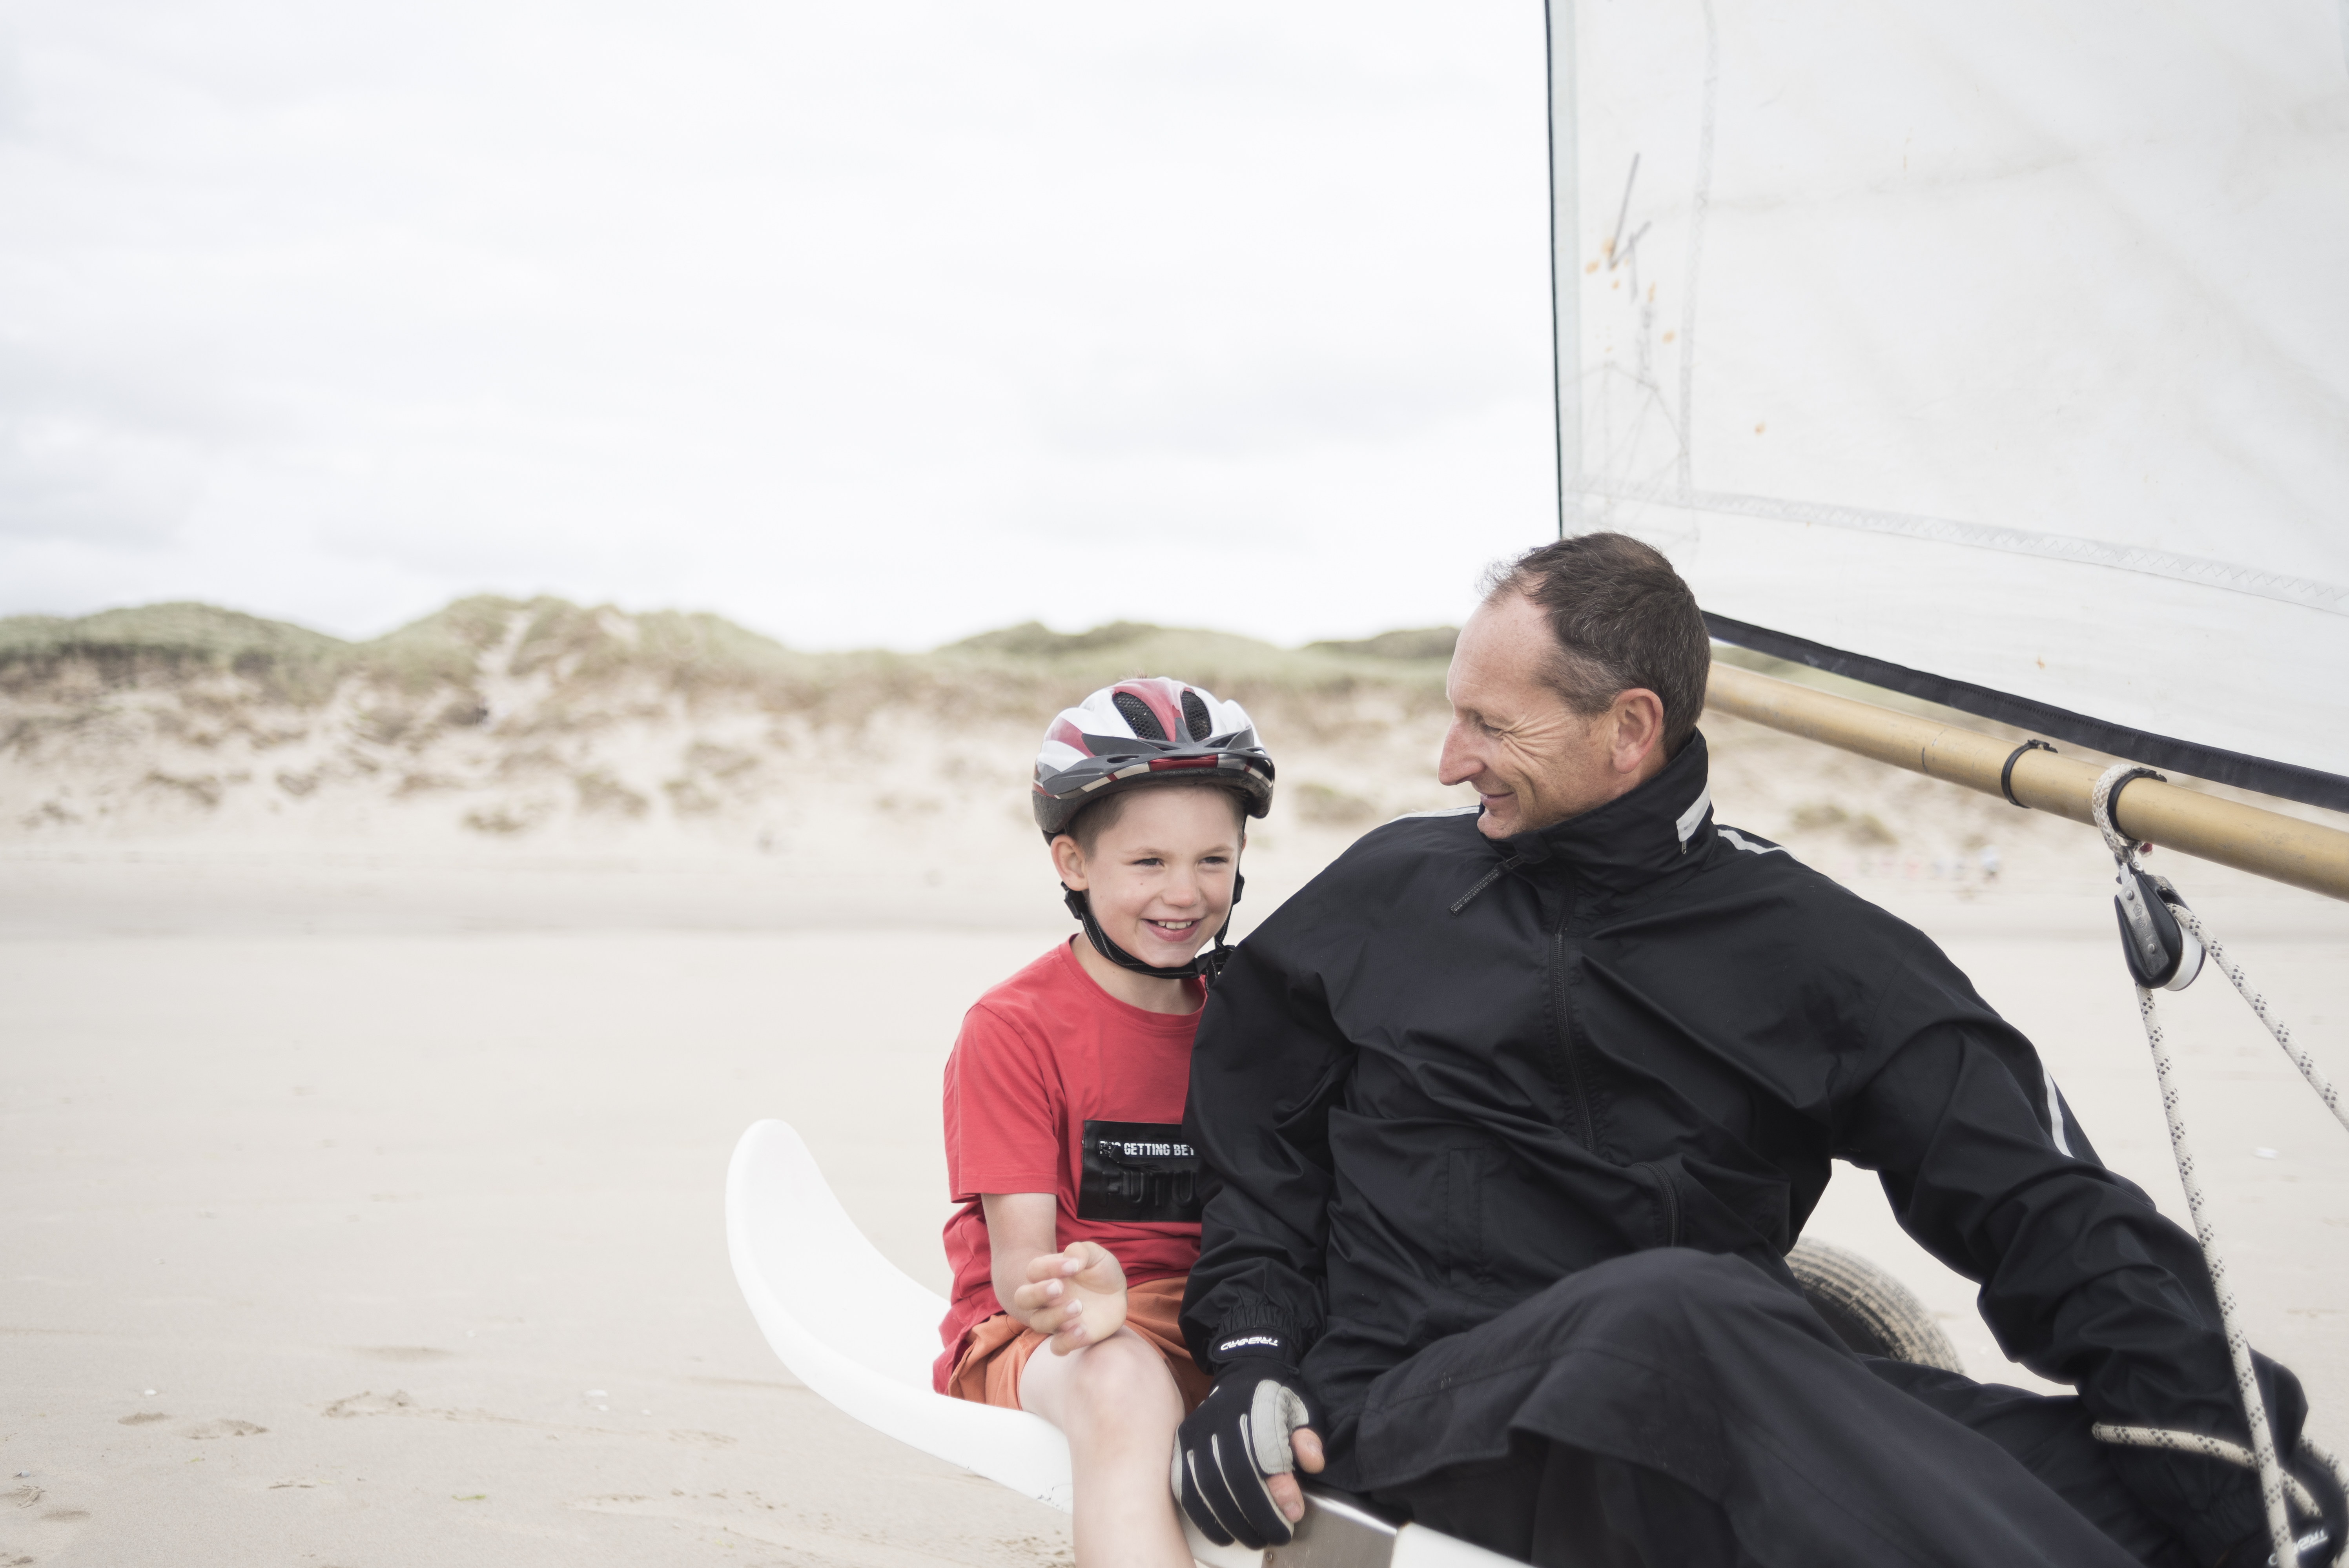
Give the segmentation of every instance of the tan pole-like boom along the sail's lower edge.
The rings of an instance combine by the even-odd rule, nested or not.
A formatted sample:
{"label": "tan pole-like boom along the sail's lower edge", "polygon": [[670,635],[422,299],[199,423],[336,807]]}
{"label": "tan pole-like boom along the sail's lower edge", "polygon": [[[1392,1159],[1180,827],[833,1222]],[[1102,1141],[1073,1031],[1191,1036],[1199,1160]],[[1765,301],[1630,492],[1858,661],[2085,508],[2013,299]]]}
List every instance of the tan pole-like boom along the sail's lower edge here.
{"label": "tan pole-like boom along the sail's lower edge", "polygon": [[[2015,751],[2013,742],[1992,735],[1773,681],[1736,664],[1712,667],[1705,707],[1985,796],[1999,793],[1999,770]],[[2015,800],[2093,826],[2088,791],[2100,772],[2095,763],[2025,751],[2013,770]],[[2138,779],[2121,791],[2119,826],[2138,843],[2349,899],[2349,833],[2340,829],[2199,796],[2159,779]]]}

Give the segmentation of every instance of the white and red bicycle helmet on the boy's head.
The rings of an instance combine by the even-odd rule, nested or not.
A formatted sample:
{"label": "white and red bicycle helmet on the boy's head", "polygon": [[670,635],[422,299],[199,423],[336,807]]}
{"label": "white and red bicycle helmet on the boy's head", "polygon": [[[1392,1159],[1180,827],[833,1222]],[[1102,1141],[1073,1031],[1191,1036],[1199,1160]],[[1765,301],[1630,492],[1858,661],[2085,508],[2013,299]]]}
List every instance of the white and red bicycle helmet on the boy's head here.
{"label": "white and red bicycle helmet on the boy's head", "polygon": [[1273,810],[1273,758],[1247,711],[1205,685],[1139,676],[1104,685],[1045,725],[1036,826],[1057,838],[1095,800],[1144,784],[1221,784],[1250,817]]}

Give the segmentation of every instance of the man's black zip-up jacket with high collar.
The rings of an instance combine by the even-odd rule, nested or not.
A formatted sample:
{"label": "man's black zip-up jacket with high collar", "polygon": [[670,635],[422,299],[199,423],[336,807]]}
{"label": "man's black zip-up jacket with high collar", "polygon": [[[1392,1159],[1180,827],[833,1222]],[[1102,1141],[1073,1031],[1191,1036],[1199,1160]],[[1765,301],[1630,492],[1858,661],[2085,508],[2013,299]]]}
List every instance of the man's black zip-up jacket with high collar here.
{"label": "man's black zip-up jacket with high collar", "polygon": [[1921,932],[1715,826],[1701,735],[1539,833],[1367,833],[1233,953],[1189,1122],[1221,1181],[1191,1347],[1306,1345],[1339,1451],[1372,1378],[1593,1263],[1696,1246],[1795,1289],[1837,1157],[2098,1420],[2243,1430],[2194,1239]]}

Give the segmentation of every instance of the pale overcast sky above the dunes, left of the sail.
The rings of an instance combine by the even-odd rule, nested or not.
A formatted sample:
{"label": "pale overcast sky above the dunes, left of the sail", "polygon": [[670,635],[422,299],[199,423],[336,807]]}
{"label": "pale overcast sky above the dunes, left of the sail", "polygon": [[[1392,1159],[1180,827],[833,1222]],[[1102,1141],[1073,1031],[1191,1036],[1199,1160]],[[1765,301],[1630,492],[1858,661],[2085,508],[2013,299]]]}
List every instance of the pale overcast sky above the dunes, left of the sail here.
{"label": "pale overcast sky above the dunes, left of the sail", "polygon": [[1456,620],[1555,528],[1541,0],[14,0],[0,613]]}

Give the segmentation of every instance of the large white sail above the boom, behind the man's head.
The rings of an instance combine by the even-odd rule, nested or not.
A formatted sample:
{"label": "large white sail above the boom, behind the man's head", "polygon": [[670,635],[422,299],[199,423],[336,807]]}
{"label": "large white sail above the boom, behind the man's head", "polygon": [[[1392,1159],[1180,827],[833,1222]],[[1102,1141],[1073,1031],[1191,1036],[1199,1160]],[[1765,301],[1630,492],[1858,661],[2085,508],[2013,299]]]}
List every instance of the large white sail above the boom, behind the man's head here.
{"label": "large white sail above the boom, behind the man's head", "polygon": [[1729,641],[2349,807],[2344,28],[1553,0],[1564,526]]}

